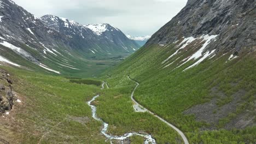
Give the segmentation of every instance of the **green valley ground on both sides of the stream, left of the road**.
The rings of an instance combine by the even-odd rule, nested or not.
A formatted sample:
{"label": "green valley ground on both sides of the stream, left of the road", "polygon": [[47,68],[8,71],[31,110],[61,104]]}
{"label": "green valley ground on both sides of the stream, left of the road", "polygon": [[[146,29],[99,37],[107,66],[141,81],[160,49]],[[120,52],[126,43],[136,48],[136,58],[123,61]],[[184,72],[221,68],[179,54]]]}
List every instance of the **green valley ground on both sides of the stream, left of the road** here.
{"label": "green valley ground on both sides of the stream, left of the road", "polygon": [[[149,113],[133,111],[130,95],[135,83],[101,90],[101,80],[73,79],[0,66],[8,71],[21,103],[15,102],[0,121],[0,139],[10,143],[110,143],[101,134],[102,123],[91,117],[86,101],[96,94],[97,115],[109,124],[108,133],[132,131],[152,134],[158,143],[180,143],[181,138]],[[81,83],[81,84],[79,84]],[[86,83],[86,84],[84,84]],[[142,137],[131,137],[142,143]],[[119,143],[118,141],[113,141]]]}

